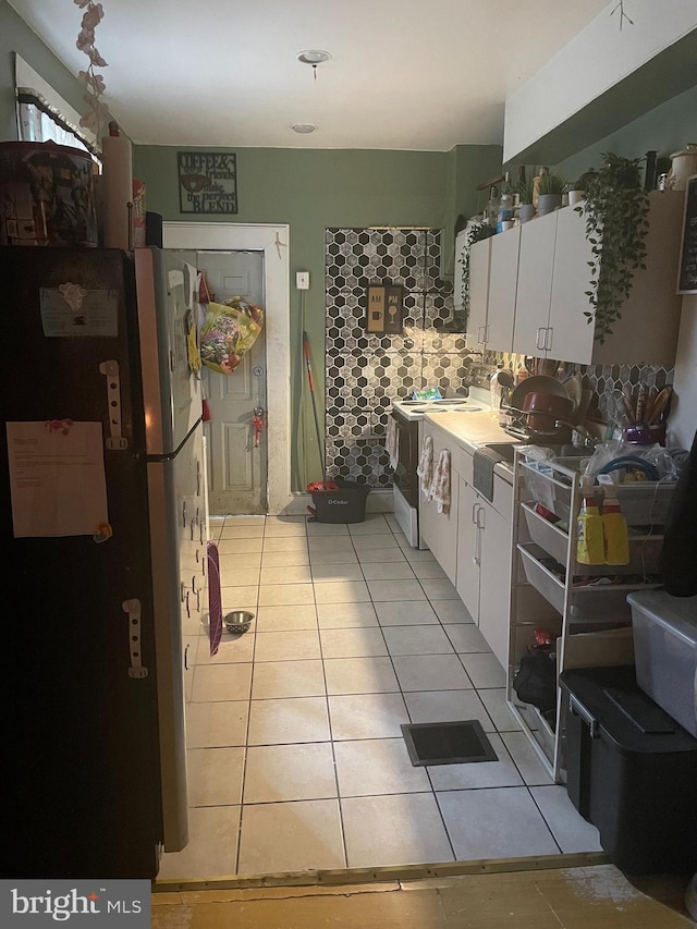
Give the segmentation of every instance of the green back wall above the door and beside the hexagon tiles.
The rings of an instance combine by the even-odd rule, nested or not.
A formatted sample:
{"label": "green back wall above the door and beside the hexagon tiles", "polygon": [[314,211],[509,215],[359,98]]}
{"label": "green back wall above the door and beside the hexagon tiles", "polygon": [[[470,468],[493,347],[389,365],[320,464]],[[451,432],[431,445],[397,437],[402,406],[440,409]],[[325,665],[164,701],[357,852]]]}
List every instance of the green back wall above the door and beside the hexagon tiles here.
{"label": "green back wall above the door and beside the hexagon tiles", "polygon": [[[187,150],[192,150],[187,148]],[[220,151],[200,148],[193,150]],[[176,148],[135,146],[134,173],[146,185],[147,209],[164,220],[289,223],[291,268],[291,365],[293,488],[299,475],[304,430],[314,420],[301,408],[305,371],[302,329],[307,330],[317,393],[323,395],[325,229],[328,227],[452,227],[458,212],[474,212],[474,187],[500,170],[499,146],[469,146],[465,152],[231,148],[237,157],[239,212],[234,217],[181,213]],[[310,273],[304,319],[295,271]],[[320,360],[321,359],[321,360]],[[321,413],[321,410],[320,410]],[[304,415],[305,414],[305,415]]]}

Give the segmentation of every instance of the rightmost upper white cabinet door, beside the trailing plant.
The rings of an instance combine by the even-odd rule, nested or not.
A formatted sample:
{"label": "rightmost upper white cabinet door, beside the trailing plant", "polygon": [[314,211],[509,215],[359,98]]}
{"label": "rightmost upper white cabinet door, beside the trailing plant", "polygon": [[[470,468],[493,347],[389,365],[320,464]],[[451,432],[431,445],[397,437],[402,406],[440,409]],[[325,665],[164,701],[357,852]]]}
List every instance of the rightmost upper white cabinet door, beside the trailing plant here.
{"label": "rightmost upper white cabinet door, beside the trailing plant", "polygon": [[590,310],[586,291],[591,258],[584,217],[573,207],[558,210],[547,349],[550,357],[561,362],[591,362],[594,325],[584,316]]}

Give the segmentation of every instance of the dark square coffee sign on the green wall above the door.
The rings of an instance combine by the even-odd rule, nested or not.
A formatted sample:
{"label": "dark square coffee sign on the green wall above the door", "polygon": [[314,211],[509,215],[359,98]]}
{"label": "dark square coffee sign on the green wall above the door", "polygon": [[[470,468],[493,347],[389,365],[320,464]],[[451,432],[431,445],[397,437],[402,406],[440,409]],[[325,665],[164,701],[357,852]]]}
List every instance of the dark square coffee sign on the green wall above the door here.
{"label": "dark square coffee sign on the green wall above the door", "polygon": [[237,212],[237,164],[233,152],[178,151],[176,162],[181,212]]}

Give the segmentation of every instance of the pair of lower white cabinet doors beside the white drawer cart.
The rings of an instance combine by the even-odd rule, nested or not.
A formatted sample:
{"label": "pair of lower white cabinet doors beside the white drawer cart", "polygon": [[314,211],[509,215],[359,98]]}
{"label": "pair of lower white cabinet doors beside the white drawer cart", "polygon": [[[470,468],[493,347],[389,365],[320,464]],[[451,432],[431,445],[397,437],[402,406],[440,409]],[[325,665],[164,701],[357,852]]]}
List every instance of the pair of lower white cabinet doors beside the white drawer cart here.
{"label": "pair of lower white cabinet doors beside the white drawer cart", "polygon": [[494,477],[494,506],[460,480],[456,588],[492,652],[508,663],[511,596],[511,486]]}

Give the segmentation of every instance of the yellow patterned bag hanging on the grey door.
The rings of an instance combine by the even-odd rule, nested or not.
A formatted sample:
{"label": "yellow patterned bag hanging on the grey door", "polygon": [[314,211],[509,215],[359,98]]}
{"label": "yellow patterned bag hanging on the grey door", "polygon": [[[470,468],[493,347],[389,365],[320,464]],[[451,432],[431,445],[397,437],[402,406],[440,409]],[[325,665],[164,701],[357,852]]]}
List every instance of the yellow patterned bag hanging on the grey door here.
{"label": "yellow patterned bag hanging on the grey door", "polygon": [[209,303],[200,330],[200,356],[205,365],[231,375],[252,349],[264,327],[264,309],[235,296]]}

